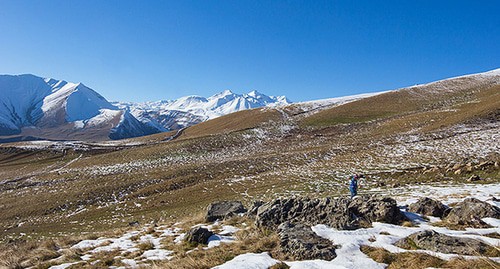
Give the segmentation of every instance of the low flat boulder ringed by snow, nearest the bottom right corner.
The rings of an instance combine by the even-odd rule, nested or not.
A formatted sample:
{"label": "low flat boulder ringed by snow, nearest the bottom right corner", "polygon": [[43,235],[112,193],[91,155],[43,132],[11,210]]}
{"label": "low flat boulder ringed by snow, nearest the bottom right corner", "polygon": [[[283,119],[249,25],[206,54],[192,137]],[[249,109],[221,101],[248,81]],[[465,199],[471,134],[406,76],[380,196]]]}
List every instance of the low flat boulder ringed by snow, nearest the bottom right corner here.
{"label": "low flat boulder ringed by snow, nearest the bottom right corner", "polygon": [[397,241],[395,245],[405,249],[425,249],[459,255],[489,255],[496,257],[500,253],[493,246],[482,241],[449,236],[431,230],[414,233]]}

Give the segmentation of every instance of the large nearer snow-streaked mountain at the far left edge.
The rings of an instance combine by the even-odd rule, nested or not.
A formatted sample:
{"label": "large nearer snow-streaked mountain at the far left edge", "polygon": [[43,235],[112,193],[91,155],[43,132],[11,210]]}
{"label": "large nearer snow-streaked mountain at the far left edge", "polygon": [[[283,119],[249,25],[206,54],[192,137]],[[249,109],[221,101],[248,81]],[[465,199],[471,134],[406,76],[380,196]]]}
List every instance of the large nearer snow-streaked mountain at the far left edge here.
{"label": "large nearer snow-streaked mountain at the far left edge", "polygon": [[159,131],[82,83],[0,75],[0,135],[119,139]]}

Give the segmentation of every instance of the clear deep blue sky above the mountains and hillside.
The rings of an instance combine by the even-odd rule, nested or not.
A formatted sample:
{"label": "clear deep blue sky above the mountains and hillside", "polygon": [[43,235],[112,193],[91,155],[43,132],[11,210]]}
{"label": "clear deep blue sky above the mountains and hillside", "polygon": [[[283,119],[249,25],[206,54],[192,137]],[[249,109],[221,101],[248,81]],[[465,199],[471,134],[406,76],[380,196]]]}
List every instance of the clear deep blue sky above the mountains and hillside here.
{"label": "clear deep blue sky above the mountains and hillside", "polygon": [[499,14],[498,0],[0,0],[0,74],[109,100],[312,100],[499,68]]}

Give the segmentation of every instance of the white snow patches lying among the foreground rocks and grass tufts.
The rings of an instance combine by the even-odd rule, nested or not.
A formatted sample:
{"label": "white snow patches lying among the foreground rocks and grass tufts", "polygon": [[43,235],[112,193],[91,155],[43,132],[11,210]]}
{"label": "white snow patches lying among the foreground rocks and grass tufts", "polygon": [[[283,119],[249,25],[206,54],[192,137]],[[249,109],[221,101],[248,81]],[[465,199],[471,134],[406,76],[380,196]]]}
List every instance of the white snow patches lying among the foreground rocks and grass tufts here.
{"label": "white snow patches lying among the foreground rocks and grass tufts", "polygon": [[[391,190],[374,189],[373,192],[395,198],[399,205],[404,206],[416,201],[420,197],[436,198],[445,204],[462,201],[467,197],[499,205],[492,197],[500,196],[500,183],[495,184],[461,184],[461,185],[416,185],[411,187],[394,188]],[[333,244],[339,245],[337,257],[332,261],[307,260],[307,261],[279,261],[272,258],[268,253],[246,253],[235,257],[225,264],[215,267],[216,269],[244,268],[244,269],[267,269],[269,266],[284,262],[292,269],[302,268],[385,268],[386,265],[375,262],[360,251],[360,246],[372,246],[384,248],[392,253],[417,251],[437,256],[441,259],[451,259],[458,257],[455,254],[444,254],[426,250],[406,250],[394,246],[399,239],[410,234],[423,230],[435,230],[436,232],[465,238],[482,240],[492,246],[499,246],[500,239],[485,236],[494,232],[500,232],[500,220],[485,218],[483,221],[493,228],[474,229],[467,228],[463,231],[451,230],[445,227],[437,227],[432,224],[439,221],[432,217],[424,220],[414,213],[406,213],[412,219],[414,227],[404,227],[386,223],[373,223],[371,228],[363,228],[354,231],[336,230],[326,225],[316,225],[311,227],[319,236],[331,240]],[[123,264],[118,268],[138,268],[148,266],[151,261],[167,261],[172,259],[176,253],[168,249],[164,240],[170,237],[173,243],[180,244],[185,237],[185,232],[178,228],[177,224],[171,226],[146,227],[140,230],[132,230],[116,238],[98,238],[94,240],[83,240],[73,245],[71,249],[78,249],[81,253],[80,262],[70,262],[51,267],[52,269],[66,268],[77,263],[87,263],[100,252],[118,250],[121,256],[116,257]],[[209,230],[217,231],[209,239],[208,246],[197,251],[204,251],[209,248],[218,247],[220,244],[236,242],[233,236],[239,228],[231,225],[222,225],[219,222],[211,224],[198,224],[192,227],[202,226]],[[140,251],[140,245],[149,243],[147,250]],[[132,252],[139,252],[134,258],[124,258],[123,255]],[[465,257],[474,258],[474,257]],[[499,262],[500,258],[492,258]],[[95,262],[95,261],[94,261]]]}

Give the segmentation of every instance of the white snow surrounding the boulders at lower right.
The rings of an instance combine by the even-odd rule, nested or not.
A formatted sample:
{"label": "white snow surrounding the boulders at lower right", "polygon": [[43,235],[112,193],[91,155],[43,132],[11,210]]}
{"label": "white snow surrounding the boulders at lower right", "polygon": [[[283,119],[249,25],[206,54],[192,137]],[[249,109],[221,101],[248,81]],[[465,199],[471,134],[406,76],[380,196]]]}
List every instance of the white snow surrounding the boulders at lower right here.
{"label": "white snow surrounding the boulders at lower right", "polygon": [[[381,191],[381,190],[379,190]],[[476,185],[465,184],[456,186],[428,186],[418,185],[414,187],[397,188],[385,193],[386,195],[395,198],[400,205],[415,202],[420,197],[430,197],[441,200],[443,203],[452,203],[462,201],[467,197],[475,197],[477,199],[499,205],[498,202],[492,200],[492,197],[500,195],[500,184]],[[438,218],[431,218],[431,221],[425,221],[421,216],[414,213],[406,213],[407,217],[412,219],[416,227],[404,227],[386,223],[373,223],[371,228],[363,228],[354,231],[336,230],[326,225],[316,225],[311,227],[312,230],[319,236],[331,240],[333,244],[340,245],[337,249],[337,257],[332,261],[324,260],[309,260],[309,261],[283,261],[291,269],[355,269],[355,268],[386,268],[387,265],[375,262],[367,255],[361,252],[360,246],[372,246],[384,248],[392,253],[400,252],[422,252],[430,254],[441,259],[449,260],[459,257],[456,254],[445,254],[428,250],[406,250],[394,246],[394,243],[413,233],[434,230],[445,235],[473,238],[484,241],[492,246],[500,246],[500,239],[484,236],[485,234],[500,232],[500,220],[485,218],[483,221],[490,224],[493,228],[475,229],[467,228],[464,231],[450,230],[445,227],[432,226],[432,222],[438,221]],[[461,256],[464,257],[464,256]],[[474,256],[466,256],[465,258],[474,258]],[[500,262],[500,258],[491,258],[496,262]],[[228,268],[245,268],[245,269],[267,269],[269,266],[280,263],[281,261],[271,258],[268,253],[247,253],[239,255],[233,260],[214,267],[214,269]]]}

